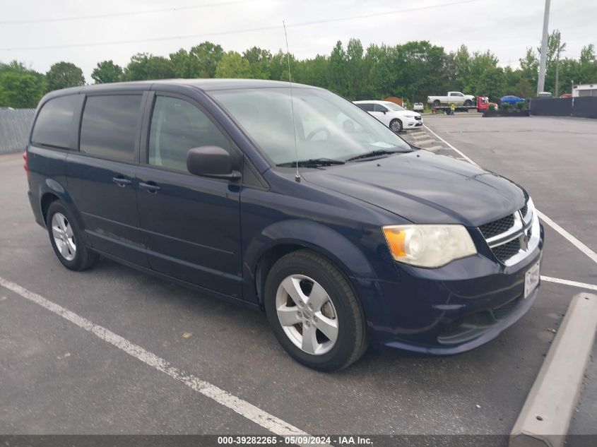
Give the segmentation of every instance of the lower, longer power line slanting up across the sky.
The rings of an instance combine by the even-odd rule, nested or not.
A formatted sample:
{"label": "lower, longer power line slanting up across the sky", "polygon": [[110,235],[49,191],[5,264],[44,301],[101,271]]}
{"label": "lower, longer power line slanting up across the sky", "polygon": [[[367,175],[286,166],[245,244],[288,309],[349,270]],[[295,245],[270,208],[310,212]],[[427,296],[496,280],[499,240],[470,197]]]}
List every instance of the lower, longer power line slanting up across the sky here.
{"label": "lower, longer power line slanting up across the sky", "polygon": [[[386,11],[383,13],[362,14],[360,16],[349,16],[349,17],[341,17],[341,18],[312,20],[309,22],[288,24],[288,25],[286,25],[286,27],[287,28],[298,28],[298,27],[309,26],[309,25],[321,25],[323,23],[333,23],[333,22],[343,22],[346,20],[356,20],[359,18],[393,16],[395,14],[410,13],[410,12],[414,12],[414,11],[424,11],[424,10],[433,9],[433,8],[444,8],[446,6],[454,6],[454,5],[459,5],[459,4],[477,3],[479,1],[486,1],[486,0],[459,0],[459,1],[452,1],[451,3],[445,3],[445,4],[435,4],[435,5],[428,5],[428,6],[419,6],[417,8],[401,9],[399,11],[394,10],[394,11]],[[170,37],[150,37],[148,39],[118,40],[118,41],[113,41],[113,42],[90,42],[90,43],[84,43],[84,44],[45,45],[45,46],[40,46],[40,47],[6,47],[6,48],[0,48],[0,51],[27,51],[27,50],[36,50],[36,49],[100,47],[103,45],[132,44],[132,43],[143,43],[143,42],[162,42],[162,41],[167,41],[167,40],[180,40],[180,39],[191,39],[191,38],[198,38],[198,37],[213,37],[213,36],[220,36],[220,35],[240,34],[243,32],[278,30],[281,28],[282,28],[282,26],[280,26],[280,25],[271,25],[271,26],[262,26],[259,28],[245,28],[244,30],[206,32],[206,33],[202,33],[202,34],[189,34],[189,35],[179,35],[179,36],[170,36]]]}

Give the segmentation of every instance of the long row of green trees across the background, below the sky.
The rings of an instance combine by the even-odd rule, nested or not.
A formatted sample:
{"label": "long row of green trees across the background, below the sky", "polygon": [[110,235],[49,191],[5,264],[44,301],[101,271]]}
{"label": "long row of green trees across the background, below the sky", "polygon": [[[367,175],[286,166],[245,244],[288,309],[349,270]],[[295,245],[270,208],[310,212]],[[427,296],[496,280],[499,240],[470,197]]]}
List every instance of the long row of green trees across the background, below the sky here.
{"label": "long row of green trees across the background, below the sky", "polygon": [[[578,58],[564,57],[566,44],[560,32],[548,39],[545,90],[570,93],[571,83],[597,81],[595,47],[588,44]],[[470,95],[531,97],[536,93],[540,48],[527,48],[519,68],[502,67],[489,50],[470,52],[466,45],[456,52],[428,41],[390,46],[362,46],[358,39],[343,45],[338,41],[329,55],[297,59],[281,50],[252,47],[241,53],[225,52],[213,42],[179,49],[168,57],[138,53],[121,67],[100,61],[91,73],[94,83],[167,78],[258,78],[288,81],[288,59],[292,81],[317,85],[349,100],[403,97],[409,103],[425,102],[427,95],[459,90]],[[556,75],[557,72],[557,75]],[[19,61],[0,62],[0,106],[35,107],[47,92],[85,85],[81,68],[70,62],[53,64],[47,73],[38,73]]]}

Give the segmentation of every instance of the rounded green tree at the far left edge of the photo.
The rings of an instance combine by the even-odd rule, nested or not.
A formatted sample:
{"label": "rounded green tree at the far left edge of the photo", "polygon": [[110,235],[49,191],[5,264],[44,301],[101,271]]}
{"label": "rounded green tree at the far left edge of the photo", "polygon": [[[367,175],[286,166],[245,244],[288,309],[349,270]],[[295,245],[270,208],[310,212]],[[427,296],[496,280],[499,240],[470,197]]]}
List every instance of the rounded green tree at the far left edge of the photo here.
{"label": "rounded green tree at the far left edge of the photo", "polygon": [[45,85],[26,72],[0,71],[0,106],[32,108],[44,95]]}

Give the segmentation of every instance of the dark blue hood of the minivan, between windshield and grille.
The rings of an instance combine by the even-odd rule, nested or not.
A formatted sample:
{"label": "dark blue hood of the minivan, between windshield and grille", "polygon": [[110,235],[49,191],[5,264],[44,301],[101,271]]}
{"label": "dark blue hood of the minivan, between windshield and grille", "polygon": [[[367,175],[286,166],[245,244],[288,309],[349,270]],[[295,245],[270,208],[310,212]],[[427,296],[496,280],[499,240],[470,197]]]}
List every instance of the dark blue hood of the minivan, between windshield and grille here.
{"label": "dark blue hood of the minivan, between windshield and grille", "polygon": [[522,208],[527,196],[513,181],[425,150],[309,170],[302,177],[415,223],[478,227]]}

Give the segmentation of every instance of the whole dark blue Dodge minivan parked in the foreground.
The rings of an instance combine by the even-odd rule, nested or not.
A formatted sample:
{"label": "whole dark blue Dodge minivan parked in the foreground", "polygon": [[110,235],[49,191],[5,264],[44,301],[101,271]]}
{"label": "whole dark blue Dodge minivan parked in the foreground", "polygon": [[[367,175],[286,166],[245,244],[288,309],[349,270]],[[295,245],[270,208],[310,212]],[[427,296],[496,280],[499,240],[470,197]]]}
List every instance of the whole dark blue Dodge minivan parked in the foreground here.
{"label": "whole dark blue Dodge minivan parked in the foreground", "polygon": [[252,80],[91,85],[40,102],[35,220],[98,256],[264,309],[298,362],[455,354],[533,304],[543,227],[504,177],[418,150],[333,93]]}

